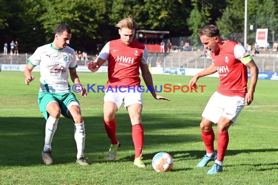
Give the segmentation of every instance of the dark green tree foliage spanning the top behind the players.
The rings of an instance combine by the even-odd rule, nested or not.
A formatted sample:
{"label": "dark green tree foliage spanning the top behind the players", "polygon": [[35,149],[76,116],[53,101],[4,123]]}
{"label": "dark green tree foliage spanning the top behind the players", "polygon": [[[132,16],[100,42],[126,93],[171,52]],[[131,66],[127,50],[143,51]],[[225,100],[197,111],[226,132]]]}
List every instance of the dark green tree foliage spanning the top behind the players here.
{"label": "dark green tree foliage spanning the top behind the players", "polygon": [[[139,29],[170,31],[198,43],[199,27],[217,24],[225,37],[240,40],[244,0],[0,0],[0,43],[18,40],[20,52],[52,42],[54,28],[72,29],[71,46],[96,52],[96,44],[119,37],[115,24],[133,17]],[[278,0],[248,0],[248,21],[278,37]],[[256,18],[256,19],[254,19]],[[238,34],[237,34],[238,33]],[[250,31],[250,34],[254,32]]]}

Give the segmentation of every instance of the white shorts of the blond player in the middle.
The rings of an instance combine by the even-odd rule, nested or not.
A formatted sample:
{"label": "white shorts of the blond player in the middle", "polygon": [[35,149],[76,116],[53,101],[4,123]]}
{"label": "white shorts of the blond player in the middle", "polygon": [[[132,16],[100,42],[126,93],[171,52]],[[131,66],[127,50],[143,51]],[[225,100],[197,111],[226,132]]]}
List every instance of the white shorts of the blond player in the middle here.
{"label": "white shorts of the blond player in the middle", "polygon": [[122,102],[125,108],[136,103],[143,105],[142,92],[133,91],[129,88],[120,88],[120,92],[119,89],[106,89],[104,102],[106,101],[113,101],[117,105],[118,110]]}

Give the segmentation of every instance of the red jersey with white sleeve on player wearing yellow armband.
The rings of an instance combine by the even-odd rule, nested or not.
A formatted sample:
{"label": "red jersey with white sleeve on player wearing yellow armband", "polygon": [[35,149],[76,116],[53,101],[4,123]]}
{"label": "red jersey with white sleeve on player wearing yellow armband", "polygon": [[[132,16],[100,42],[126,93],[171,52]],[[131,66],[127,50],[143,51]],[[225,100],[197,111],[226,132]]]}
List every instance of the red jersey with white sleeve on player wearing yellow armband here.
{"label": "red jersey with white sleeve on player wearing yellow armband", "polygon": [[219,54],[211,52],[212,62],[219,74],[217,92],[226,96],[245,98],[247,93],[247,67],[240,61],[249,55],[246,49],[236,42],[227,40]]}

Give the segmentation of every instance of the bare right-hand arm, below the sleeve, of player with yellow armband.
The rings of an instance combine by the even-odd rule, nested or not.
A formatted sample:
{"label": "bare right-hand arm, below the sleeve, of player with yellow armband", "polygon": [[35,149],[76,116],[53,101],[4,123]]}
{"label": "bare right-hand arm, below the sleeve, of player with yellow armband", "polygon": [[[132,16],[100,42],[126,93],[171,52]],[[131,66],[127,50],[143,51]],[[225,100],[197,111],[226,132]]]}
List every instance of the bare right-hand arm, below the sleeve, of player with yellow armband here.
{"label": "bare right-hand arm, below the sleeve, of player with yellow armband", "polygon": [[254,92],[258,81],[258,67],[253,59],[250,60],[245,65],[250,70],[250,79],[251,79],[249,90],[245,95],[245,102],[246,105],[250,105],[254,99]]}

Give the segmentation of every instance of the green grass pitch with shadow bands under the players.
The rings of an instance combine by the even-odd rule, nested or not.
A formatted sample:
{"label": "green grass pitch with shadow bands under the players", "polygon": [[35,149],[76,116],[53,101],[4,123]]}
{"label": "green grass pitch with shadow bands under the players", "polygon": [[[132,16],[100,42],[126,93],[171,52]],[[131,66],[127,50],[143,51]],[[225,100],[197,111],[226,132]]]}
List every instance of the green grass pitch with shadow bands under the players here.
{"label": "green grass pitch with shadow bands under the players", "polygon": [[[277,81],[258,81],[252,105],[243,109],[236,125],[229,129],[230,143],[223,172],[209,176],[206,172],[212,162],[204,168],[195,167],[205,154],[199,122],[204,106],[218,87],[218,78],[200,78],[198,85],[206,85],[203,93],[159,93],[170,98],[170,102],[155,100],[150,93],[143,93],[143,161],[147,167],[140,169],[133,166],[131,124],[123,107],[116,114],[121,147],[117,160],[107,161],[110,140],[102,119],[104,93],[93,92],[86,98],[77,94],[85,121],[85,157],[91,166],[75,163],[73,123],[62,116],[52,142],[55,165],[43,165],[45,120],[37,103],[40,74],[33,74],[35,80],[27,86],[22,72],[0,73],[1,185],[278,184]],[[107,74],[79,73],[79,77],[82,84],[105,85],[107,81]],[[190,78],[153,75],[155,85],[188,85]],[[159,173],[153,169],[151,160],[159,151],[173,156],[172,171]]]}

